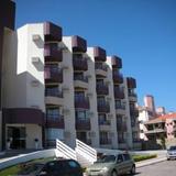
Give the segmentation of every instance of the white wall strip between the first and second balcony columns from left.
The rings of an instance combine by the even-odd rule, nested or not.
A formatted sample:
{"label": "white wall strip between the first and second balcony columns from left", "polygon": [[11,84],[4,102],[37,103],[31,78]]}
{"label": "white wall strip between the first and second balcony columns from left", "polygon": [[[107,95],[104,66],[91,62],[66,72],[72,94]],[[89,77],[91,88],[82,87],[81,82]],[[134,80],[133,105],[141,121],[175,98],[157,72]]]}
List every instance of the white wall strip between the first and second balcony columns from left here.
{"label": "white wall strip between the first and second balcony columns from left", "polygon": [[64,113],[65,121],[65,142],[72,147],[76,143],[76,129],[75,129],[75,95],[74,95],[74,69],[73,69],[73,54],[72,54],[72,37],[64,36],[63,43],[68,47],[67,52],[63,52],[63,65],[68,69],[64,69],[64,84],[63,87],[68,88],[64,90],[64,107],[63,109],[69,112]]}

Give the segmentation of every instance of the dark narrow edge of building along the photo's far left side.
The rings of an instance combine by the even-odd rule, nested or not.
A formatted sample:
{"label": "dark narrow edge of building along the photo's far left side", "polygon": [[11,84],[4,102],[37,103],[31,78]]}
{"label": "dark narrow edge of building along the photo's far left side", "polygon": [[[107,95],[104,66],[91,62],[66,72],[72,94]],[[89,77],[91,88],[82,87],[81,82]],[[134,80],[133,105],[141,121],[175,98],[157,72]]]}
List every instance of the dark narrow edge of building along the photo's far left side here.
{"label": "dark narrow edge of building along the photo's far left side", "polygon": [[2,119],[2,64],[9,52],[9,46],[6,44],[7,40],[11,37],[14,31],[15,3],[10,0],[1,0],[0,12],[0,148],[2,148],[2,145],[4,146],[4,125]]}

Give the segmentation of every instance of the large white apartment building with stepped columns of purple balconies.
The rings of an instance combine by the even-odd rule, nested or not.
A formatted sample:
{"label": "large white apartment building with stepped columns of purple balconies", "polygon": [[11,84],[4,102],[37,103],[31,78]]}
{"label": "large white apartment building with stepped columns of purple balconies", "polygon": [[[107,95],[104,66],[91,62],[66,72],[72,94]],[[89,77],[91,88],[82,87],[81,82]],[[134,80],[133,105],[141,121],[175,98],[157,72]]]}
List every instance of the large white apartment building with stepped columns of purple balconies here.
{"label": "large white apartment building with stepped columns of purple balconies", "polygon": [[[122,61],[51,22],[26,24],[6,41],[2,77],[3,145],[55,146],[59,139],[94,147],[139,148],[135,79]],[[3,146],[4,148],[4,146]]]}

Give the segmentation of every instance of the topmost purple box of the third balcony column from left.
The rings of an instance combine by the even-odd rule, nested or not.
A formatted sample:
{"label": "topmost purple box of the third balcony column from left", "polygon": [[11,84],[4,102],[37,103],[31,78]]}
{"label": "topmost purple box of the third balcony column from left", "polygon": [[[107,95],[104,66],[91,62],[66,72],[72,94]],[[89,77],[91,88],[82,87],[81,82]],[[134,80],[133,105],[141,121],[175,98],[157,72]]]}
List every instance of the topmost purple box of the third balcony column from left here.
{"label": "topmost purple box of the third balcony column from left", "polygon": [[95,56],[95,62],[106,62],[107,61],[107,53],[101,47],[94,47],[94,56]]}

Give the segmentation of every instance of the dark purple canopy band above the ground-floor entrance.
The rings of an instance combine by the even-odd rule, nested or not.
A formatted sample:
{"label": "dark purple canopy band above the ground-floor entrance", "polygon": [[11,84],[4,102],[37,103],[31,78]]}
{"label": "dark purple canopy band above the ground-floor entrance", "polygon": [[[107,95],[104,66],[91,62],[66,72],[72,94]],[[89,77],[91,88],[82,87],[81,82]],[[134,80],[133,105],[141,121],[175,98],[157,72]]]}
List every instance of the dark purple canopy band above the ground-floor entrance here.
{"label": "dark purple canopy band above the ground-floor entrance", "polygon": [[10,108],[2,110],[4,123],[24,123],[44,125],[44,113],[33,108]]}

